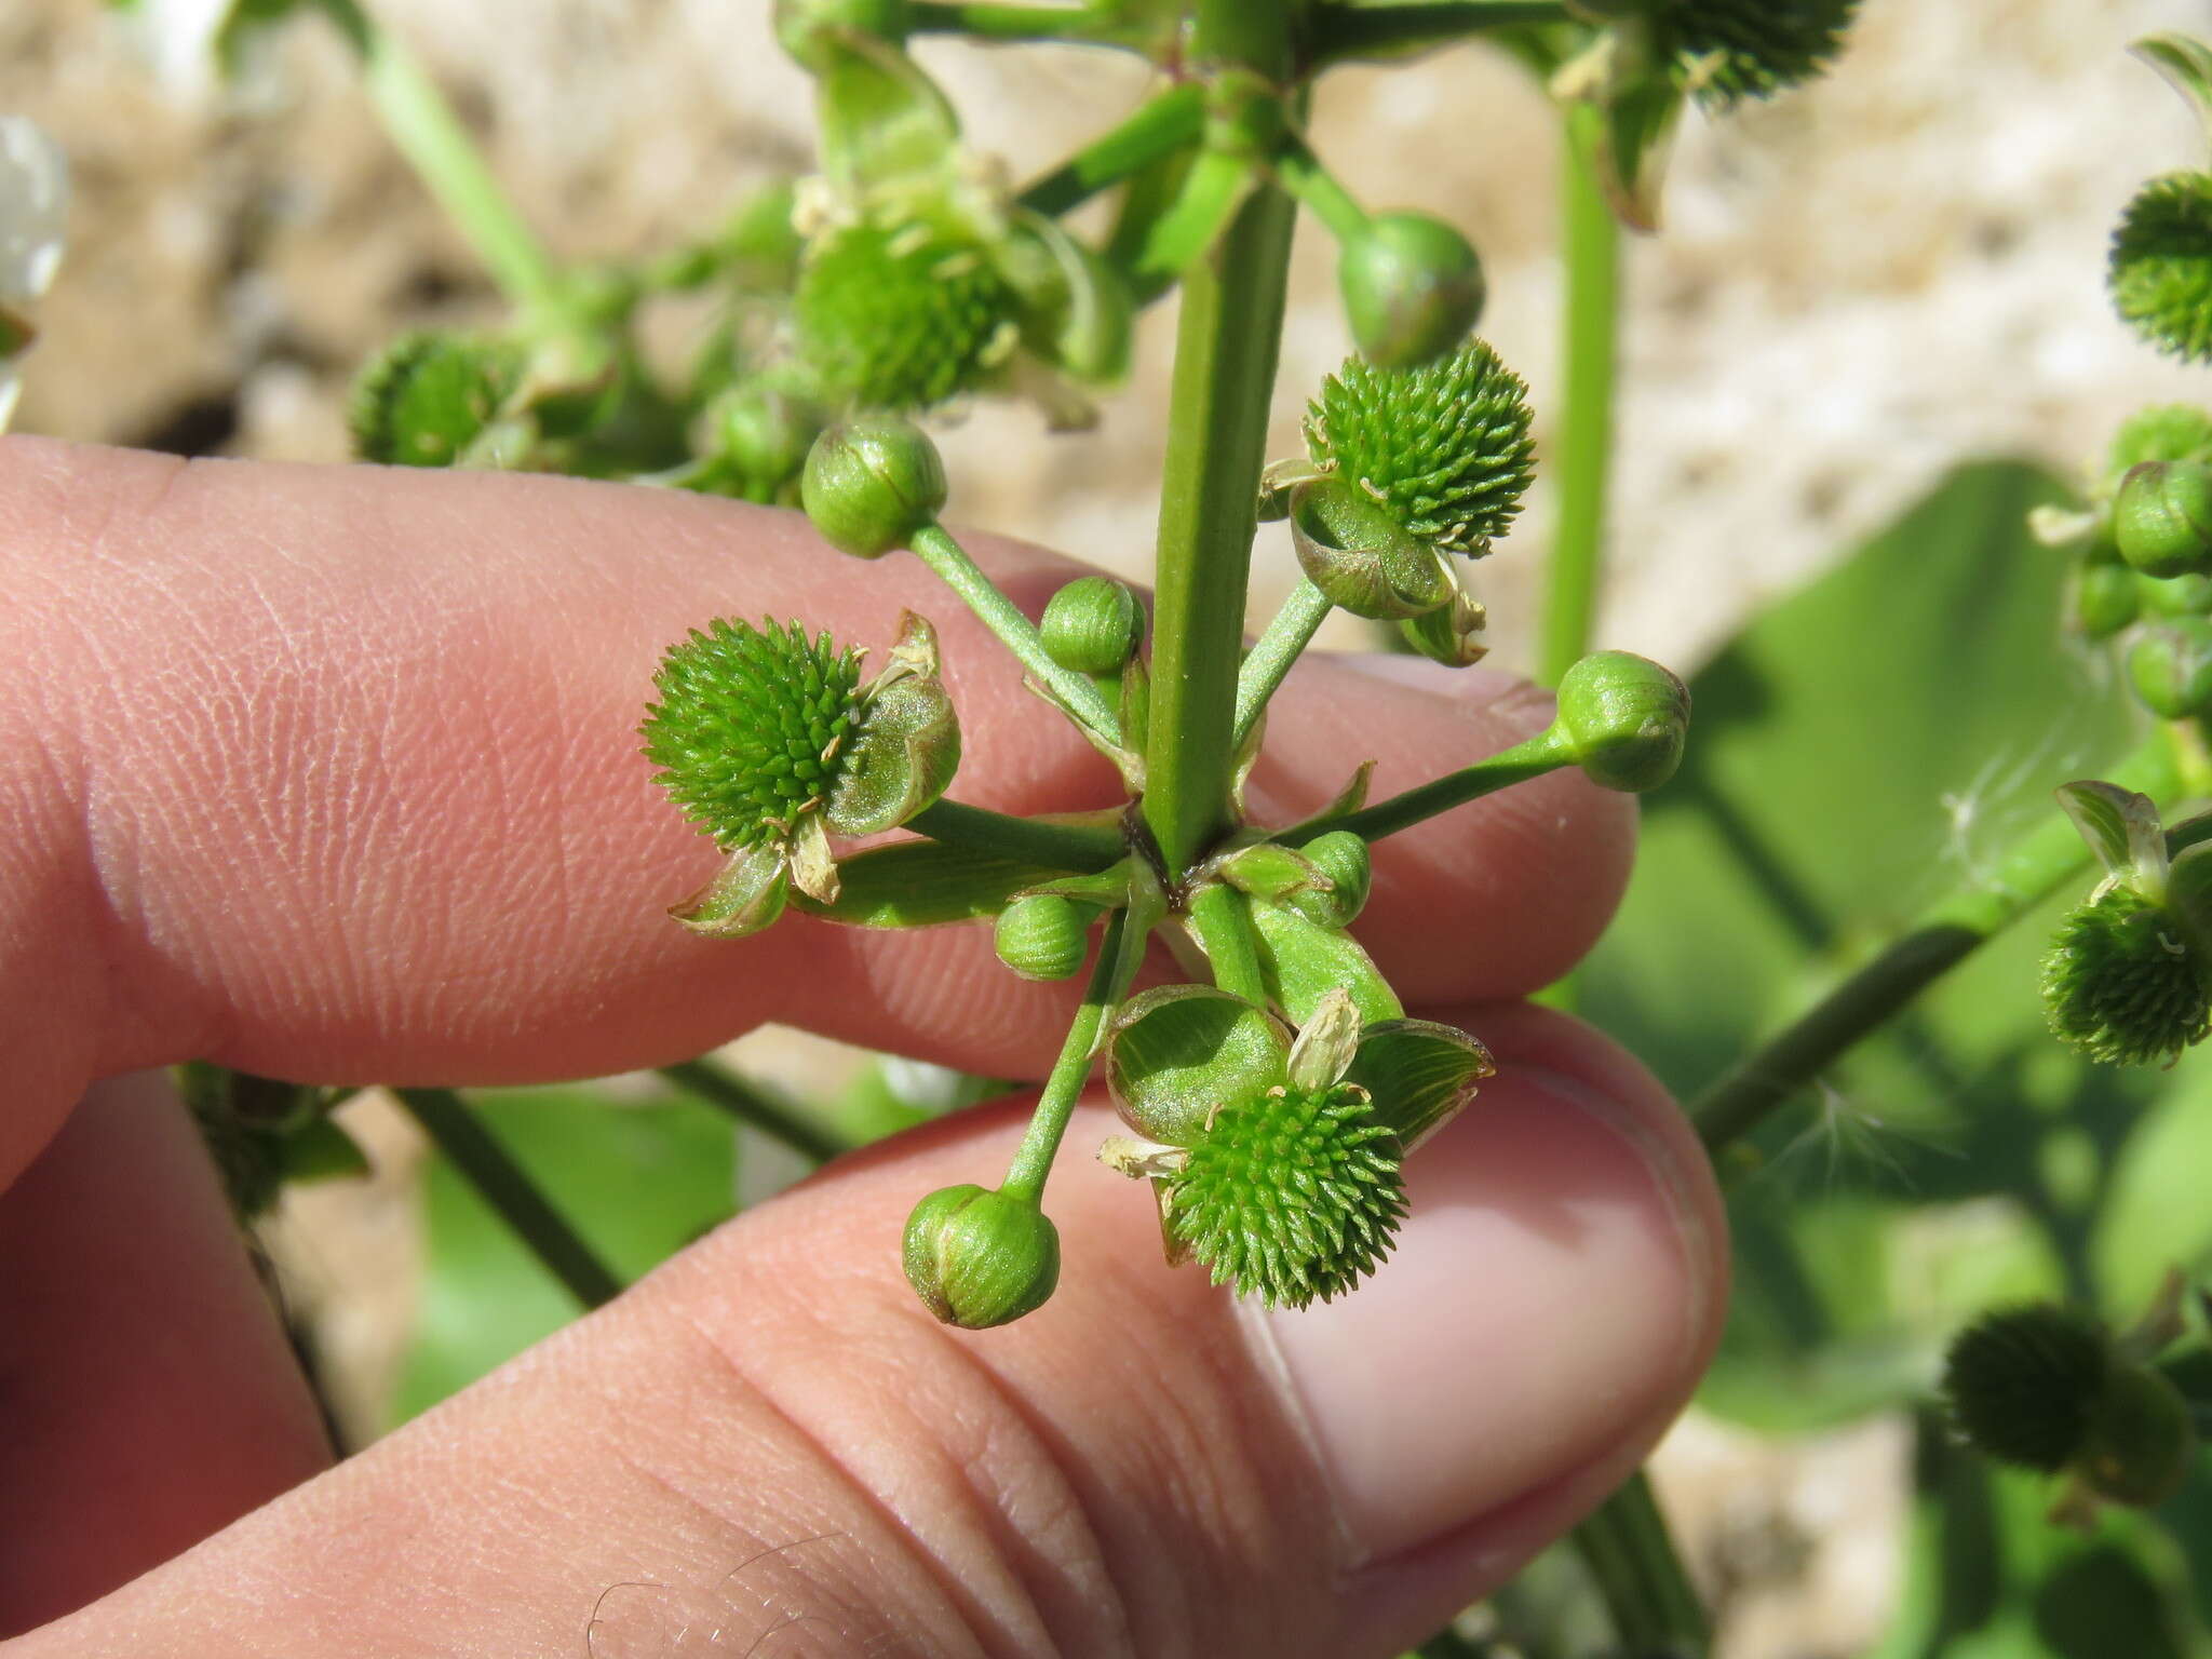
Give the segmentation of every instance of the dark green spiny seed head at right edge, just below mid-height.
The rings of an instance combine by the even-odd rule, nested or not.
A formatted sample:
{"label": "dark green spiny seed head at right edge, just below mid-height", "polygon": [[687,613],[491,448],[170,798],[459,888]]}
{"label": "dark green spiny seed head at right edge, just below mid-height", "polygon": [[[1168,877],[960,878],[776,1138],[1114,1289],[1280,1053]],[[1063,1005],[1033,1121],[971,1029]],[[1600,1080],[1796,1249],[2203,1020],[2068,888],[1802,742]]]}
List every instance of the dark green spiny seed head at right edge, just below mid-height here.
{"label": "dark green spiny seed head at right edge, just below mid-height", "polygon": [[2059,1042],[2108,1066],[2166,1064],[2212,1029],[2212,982],[2163,905],[2112,887],[2059,922],[2044,956]]}

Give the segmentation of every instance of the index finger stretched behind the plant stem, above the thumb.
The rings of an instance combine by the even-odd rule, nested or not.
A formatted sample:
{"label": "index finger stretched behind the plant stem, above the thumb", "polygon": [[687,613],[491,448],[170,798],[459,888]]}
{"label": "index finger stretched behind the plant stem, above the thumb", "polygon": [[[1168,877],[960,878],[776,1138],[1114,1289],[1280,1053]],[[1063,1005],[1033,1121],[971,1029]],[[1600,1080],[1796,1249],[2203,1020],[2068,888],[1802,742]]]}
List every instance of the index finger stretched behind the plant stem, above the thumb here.
{"label": "index finger stretched behind the plant stem, above the thumb", "polygon": [[[1068,568],[978,546],[1031,608]],[[1073,991],[1013,980],[978,927],[799,918],[728,945],[664,916],[717,858],[635,732],[661,648],[712,615],[883,648],[922,611],[967,732],[958,796],[1117,796],[914,560],[863,571],[796,515],[672,491],[13,438],[0,591],[0,1048],[20,1077],[0,1181],[84,1082],[186,1055],[522,1082],[787,1020],[1037,1075],[1066,1026]],[[1314,664],[1261,781],[1310,810],[1360,759],[1389,792],[1542,721]],[[1363,936],[1411,995],[1526,991],[1595,938],[1630,827],[1579,776],[1464,807],[1385,843]]]}

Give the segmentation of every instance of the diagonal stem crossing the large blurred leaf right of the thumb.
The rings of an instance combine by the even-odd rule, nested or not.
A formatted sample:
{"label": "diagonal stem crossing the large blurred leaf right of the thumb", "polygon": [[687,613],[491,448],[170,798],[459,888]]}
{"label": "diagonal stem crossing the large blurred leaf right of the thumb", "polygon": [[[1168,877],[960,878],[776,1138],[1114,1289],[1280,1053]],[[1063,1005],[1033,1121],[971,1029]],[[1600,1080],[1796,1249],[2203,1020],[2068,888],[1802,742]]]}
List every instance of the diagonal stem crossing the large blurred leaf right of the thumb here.
{"label": "diagonal stem crossing the large blurred leaf right of the thumb", "polygon": [[[2166,732],[2104,776],[2152,801],[2170,801],[2181,787],[2174,743]],[[2044,818],[2013,843],[1995,869],[1920,911],[1880,956],[1699,1095],[1690,1106],[1690,1121],[1705,1150],[1719,1152],[1750,1135],[1851,1044],[2062,885],[2086,874],[2088,865],[2090,852],[2073,823],[2062,814]]]}

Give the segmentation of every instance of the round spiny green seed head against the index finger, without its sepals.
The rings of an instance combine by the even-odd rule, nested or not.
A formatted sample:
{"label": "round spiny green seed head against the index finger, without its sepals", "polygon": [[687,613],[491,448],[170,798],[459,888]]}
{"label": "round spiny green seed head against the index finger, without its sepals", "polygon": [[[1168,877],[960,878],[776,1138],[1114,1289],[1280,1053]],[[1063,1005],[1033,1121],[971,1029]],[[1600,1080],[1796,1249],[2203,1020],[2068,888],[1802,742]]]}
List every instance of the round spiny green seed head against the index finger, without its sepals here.
{"label": "round spiny green seed head against the index finger, without its sepals", "polygon": [[730,852],[787,843],[860,737],[860,653],[799,624],[714,619],[670,646],[646,706],[646,759],[684,816]]}

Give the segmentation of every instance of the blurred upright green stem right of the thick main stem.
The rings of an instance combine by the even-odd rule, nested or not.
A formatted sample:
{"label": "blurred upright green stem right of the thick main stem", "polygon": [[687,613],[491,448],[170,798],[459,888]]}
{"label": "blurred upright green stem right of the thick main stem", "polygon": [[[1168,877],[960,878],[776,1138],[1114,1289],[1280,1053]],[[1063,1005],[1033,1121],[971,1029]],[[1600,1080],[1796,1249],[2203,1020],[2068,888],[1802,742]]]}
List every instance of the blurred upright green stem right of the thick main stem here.
{"label": "blurred upright green stem right of the thick main stem", "polygon": [[1559,677],[1590,648],[1606,557],[1613,469],[1613,385],[1619,358],[1621,232],[1597,188],[1604,115],[1573,104],[1559,144],[1559,217],[1566,241],[1566,405],[1553,469],[1559,526],[1551,542],[1537,679]]}

